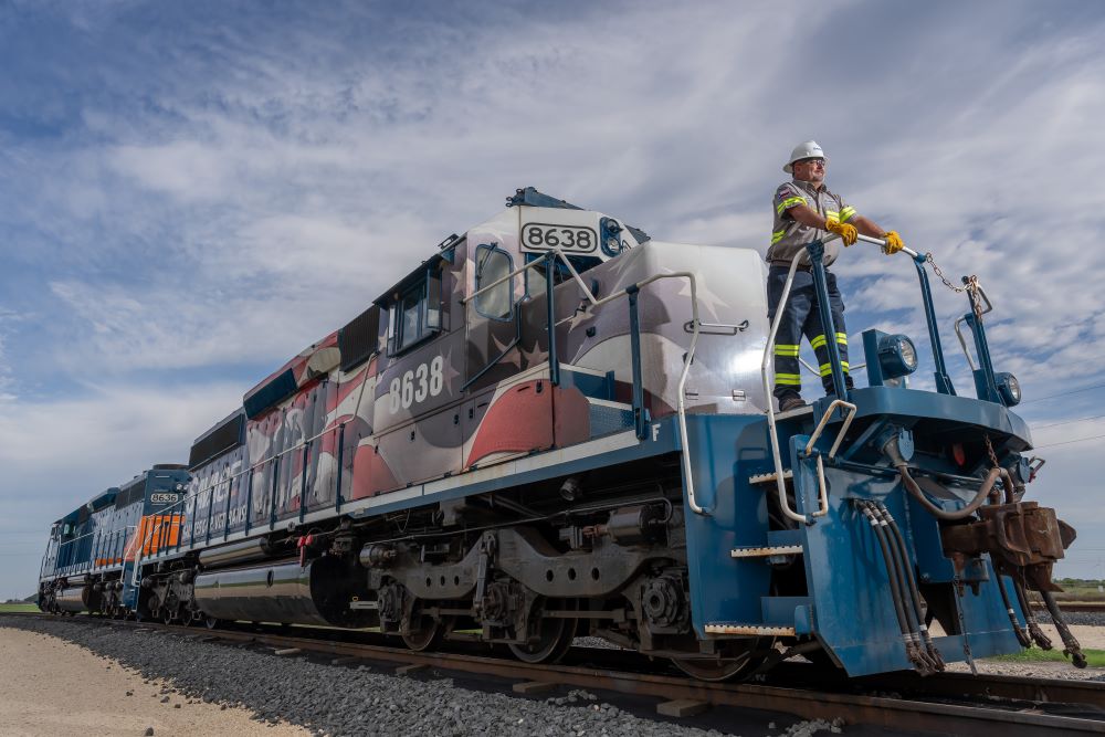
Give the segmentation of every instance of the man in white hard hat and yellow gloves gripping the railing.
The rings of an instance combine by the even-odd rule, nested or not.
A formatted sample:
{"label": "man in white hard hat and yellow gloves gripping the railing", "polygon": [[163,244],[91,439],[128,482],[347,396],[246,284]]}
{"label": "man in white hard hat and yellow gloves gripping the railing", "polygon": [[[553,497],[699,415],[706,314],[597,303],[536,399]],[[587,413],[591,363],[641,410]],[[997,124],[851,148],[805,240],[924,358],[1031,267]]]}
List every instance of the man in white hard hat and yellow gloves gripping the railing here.
{"label": "man in white hard hat and yellow gloves gripping the railing", "polygon": [[779,331],[775,337],[775,397],[779,410],[804,407],[802,400],[802,375],[798,352],[802,335],[810,341],[818,357],[821,383],[825,393],[833,391],[832,367],[829,362],[827,339],[835,339],[840,349],[840,360],[844,369],[844,381],[852,388],[852,377],[848,372],[848,329],[844,327],[844,302],[836,288],[836,275],[828,271],[840,253],[838,241],[825,244],[825,281],[829,287],[829,306],[832,310],[834,336],[827,337],[821,329],[817,293],[810,260],[806,246],[829,233],[836,233],[844,245],[855,243],[857,233],[881,238],[886,241],[884,252],[890,255],[904,246],[894,231],[884,231],[869,218],[857,214],[855,208],[844,202],[844,198],[825,187],[825,167],[829,164],[824,151],[815,140],[807,140],[794,147],[790,160],[782,170],[793,176],[791,181],[775,190],[775,225],[771,229],[771,245],[767,251],[770,266],[767,277],[768,319],[775,319],[787,282],[790,262],[801,254],[790,297],[783,306]]}

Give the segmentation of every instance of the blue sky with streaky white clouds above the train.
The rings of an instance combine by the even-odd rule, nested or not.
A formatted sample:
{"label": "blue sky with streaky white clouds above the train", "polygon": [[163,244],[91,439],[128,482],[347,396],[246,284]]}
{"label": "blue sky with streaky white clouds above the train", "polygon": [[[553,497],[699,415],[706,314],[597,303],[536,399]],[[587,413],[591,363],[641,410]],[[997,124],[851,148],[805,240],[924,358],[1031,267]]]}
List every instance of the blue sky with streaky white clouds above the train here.
{"label": "blue sky with streaky white clouds above the train", "polygon": [[[766,250],[782,164],[954,281],[1105,578],[1105,4],[0,0],[0,600],[51,522],[192,440],[515,189]],[[834,266],[924,346],[904,257]],[[966,301],[934,278],[951,324]],[[925,387],[932,364],[915,386]]]}

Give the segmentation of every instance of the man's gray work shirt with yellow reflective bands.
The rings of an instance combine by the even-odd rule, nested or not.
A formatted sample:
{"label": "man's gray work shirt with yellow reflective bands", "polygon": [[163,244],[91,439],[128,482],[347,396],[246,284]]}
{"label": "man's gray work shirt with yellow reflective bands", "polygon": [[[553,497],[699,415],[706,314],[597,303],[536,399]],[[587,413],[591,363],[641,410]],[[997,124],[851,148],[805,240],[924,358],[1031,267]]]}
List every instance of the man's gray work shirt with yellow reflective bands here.
{"label": "man's gray work shirt with yellow reflective bands", "polygon": [[[855,208],[846,204],[840,194],[829,191],[824,185],[817,189],[810,182],[797,179],[780,185],[775,190],[772,204],[775,206],[775,224],[771,228],[771,246],[767,250],[767,260],[769,262],[785,262],[787,266],[790,265],[790,260],[794,257],[796,253],[806,250],[808,243],[830,235],[828,231],[798,222],[787,214],[788,209],[796,204],[804,204],[824,218],[832,218],[841,222],[848,222],[855,217]],[[839,254],[840,239],[827,243],[825,266],[836,261]],[[809,256],[803,255],[799,263],[809,266]]]}

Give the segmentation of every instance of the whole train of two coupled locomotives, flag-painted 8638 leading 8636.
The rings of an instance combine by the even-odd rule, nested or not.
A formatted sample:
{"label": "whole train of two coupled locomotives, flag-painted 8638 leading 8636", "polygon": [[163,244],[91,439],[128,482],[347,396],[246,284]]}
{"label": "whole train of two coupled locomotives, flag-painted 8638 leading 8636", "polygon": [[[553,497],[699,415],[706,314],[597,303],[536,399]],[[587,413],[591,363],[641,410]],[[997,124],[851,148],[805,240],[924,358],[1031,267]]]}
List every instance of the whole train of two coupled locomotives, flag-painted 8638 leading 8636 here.
{"label": "whole train of two coupled locomotives, flag-painted 8638 leading 8636", "polygon": [[908,386],[909,337],[870,329],[866,387],[830,340],[835,393],[779,413],[755,250],[533,188],[506,206],[248,391],[187,464],[55,523],[40,607],[478,638],[533,663],[592,635],[720,680],[1051,646],[1034,589],[1084,664],[1051,597],[1074,530],[1022,498],[1042,462],[977,281],[955,326],[974,396],[908,252],[935,389]]}

